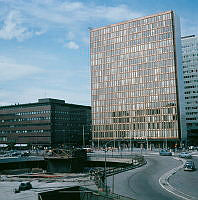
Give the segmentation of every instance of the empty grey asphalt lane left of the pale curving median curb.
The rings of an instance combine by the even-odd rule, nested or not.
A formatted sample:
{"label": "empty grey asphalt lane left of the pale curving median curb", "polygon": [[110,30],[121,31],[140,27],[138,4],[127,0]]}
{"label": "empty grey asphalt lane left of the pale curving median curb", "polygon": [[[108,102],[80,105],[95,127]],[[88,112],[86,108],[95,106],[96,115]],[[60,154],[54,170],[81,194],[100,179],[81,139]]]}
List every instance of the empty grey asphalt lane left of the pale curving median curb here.
{"label": "empty grey asphalt lane left of the pale curving median curb", "polygon": [[[114,192],[136,200],[178,200],[181,199],[164,190],[159,178],[167,171],[181,165],[169,156],[147,155],[147,165],[114,175]],[[107,179],[112,187],[113,177]]]}

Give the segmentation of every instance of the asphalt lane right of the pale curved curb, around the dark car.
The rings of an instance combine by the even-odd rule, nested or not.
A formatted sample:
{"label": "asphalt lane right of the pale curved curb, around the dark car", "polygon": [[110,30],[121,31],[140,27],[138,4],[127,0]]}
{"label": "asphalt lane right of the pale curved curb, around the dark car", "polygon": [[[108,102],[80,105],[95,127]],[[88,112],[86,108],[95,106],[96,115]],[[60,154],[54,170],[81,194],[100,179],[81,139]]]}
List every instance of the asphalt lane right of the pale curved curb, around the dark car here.
{"label": "asphalt lane right of the pale curved curb, around the dark car", "polygon": [[198,199],[198,153],[193,155],[196,171],[178,170],[169,178],[169,183],[177,190]]}

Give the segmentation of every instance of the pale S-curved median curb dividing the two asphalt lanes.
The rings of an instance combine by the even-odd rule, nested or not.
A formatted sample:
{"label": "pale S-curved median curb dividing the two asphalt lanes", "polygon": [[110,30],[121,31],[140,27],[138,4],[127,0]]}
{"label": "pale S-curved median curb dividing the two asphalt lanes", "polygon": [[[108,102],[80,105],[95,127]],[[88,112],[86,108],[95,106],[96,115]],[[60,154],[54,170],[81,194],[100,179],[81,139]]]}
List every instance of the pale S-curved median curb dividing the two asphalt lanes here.
{"label": "pale S-curved median curb dividing the two asphalt lanes", "polygon": [[185,160],[182,159],[182,158],[177,158],[177,157],[174,157],[174,159],[176,160],[180,160],[182,161],[182,165],[180,165],[179,167],[176,167],[176,168],[173,168],[171,169],[170,171],[166,172],[165,174],[163,174],[160,178],[159,178],[159,184],[160,186],[167,190],[168,192],[174,194],[175,196],[178,196],[182,199],[185,199],[185,200],[198,200],[198,198],[196,197],[193,197],[193,196],[190,196],[190,195],[187,195],[181,191],[178,191],[176,190],[172,185],[170,185],[170,183],[168,182],[170,176],[172,176],[173,174],[175,174],[179,169],[183,168],[183,165],[184,165],[184,162]]}

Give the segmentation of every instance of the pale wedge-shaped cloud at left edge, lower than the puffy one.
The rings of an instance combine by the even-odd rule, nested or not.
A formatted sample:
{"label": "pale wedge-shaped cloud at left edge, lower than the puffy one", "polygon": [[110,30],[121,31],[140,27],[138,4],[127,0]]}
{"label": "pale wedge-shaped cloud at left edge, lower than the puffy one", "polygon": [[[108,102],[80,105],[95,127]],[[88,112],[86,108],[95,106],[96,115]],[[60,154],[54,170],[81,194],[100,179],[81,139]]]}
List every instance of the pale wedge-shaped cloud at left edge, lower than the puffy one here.
{"label": "pale wedge-shaped cloud at left edge, lower than the puffy one", "polygon": [[26,76],[40,73],[42,69],[32,66],[17,64],[15,61],[0,57],[0,82],[26,78]]}

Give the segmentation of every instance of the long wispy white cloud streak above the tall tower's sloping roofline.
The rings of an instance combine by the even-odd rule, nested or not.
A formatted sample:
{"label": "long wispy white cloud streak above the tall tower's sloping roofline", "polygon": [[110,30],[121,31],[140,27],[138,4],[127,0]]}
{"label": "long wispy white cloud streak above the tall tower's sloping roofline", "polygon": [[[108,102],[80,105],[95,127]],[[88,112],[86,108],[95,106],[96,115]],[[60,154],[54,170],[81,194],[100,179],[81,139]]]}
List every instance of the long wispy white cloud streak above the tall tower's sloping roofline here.
{"label": "long wispy white cloud streak above the tall tower's sloping roofline", "polygon": [[[55,2],[55,1],[54,1]],[[126,5],[117,6],[101,6],[93,3],[81,2],[65,2],[64,5],[56,7],[54,12],[59,12],[66,18],[70,18],[70,22],[89,22],[90,19],[119,21],[141,16],[139,12],[133,12]],[[71,17],[72,16],[72,17]],[[60,21],[61,23],[61,21]],[[62,22],[67,23],[67,21]]]}

